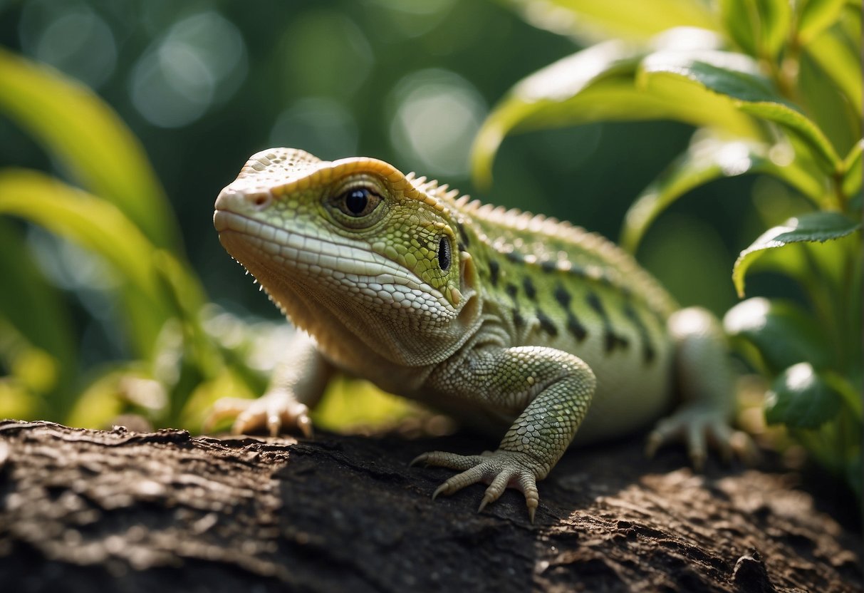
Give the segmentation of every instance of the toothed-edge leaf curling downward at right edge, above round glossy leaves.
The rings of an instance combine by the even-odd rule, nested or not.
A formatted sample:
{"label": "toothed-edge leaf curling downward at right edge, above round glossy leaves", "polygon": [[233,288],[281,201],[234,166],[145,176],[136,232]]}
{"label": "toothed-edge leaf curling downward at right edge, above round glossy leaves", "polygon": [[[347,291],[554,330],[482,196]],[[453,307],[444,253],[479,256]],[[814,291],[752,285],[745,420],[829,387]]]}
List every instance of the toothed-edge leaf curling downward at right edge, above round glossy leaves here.
{"label": "toothed-edge leaf curling downward at right edge, above round glossy leaves", "polygon": [[836,212],[812,212],[786,220],[762,233],[753,245],[740,252],[732,269],[732,281],[739,297],[744,297],[744,276],[767,250],[779,249],[792,243],[822,243],[840,239],[861,229],[861,222],[850,220]]}

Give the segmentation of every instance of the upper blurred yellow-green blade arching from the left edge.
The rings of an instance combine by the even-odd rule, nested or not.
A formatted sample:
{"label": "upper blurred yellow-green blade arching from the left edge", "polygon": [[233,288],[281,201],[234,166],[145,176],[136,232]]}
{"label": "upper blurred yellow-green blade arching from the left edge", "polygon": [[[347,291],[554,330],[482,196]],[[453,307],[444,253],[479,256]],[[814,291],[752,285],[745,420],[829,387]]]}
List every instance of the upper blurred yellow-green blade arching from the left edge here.
{"label": "upper blurred yellow-green blade arching from the left edge", "polygon": [[0,48],[0,112],[117,205],[155,245],[177,248],[174,215],[141,144],[90,89]]}

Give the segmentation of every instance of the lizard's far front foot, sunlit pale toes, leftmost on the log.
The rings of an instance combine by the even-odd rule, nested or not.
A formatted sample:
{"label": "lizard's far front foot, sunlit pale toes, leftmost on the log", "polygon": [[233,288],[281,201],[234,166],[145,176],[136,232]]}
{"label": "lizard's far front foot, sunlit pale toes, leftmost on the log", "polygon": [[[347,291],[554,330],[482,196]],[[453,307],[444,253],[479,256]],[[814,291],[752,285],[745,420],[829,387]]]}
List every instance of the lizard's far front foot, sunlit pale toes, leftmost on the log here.
{"label": "lizard's far front foot, sunlit pale toes, leftmost on the log", "polygon": [[271,437],[285,429],[300,430],[304,437],[312,437],[308,407],[287,392],[270,392],[258,399],[219,399],[204,420],[204,430],[232,416],[236,417],[231,428],[235,435],[266,428]]}

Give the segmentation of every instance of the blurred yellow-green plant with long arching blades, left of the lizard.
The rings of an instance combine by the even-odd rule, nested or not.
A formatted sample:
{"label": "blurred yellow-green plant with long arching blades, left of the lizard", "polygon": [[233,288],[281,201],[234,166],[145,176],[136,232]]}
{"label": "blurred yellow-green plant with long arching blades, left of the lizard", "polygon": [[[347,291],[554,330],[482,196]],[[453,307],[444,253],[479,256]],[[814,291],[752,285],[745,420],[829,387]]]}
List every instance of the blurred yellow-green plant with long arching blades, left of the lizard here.
{"label": "blurred yellow-green plant with long arching blades, left of the lizard", "polygon": [[231,320],[206,307],[162,186],[123,122],[85,86],[2,49],[0,79],[0,112],[78,184],[0,169],[0,214],[59,238],[48,248],[67,274],[95,270],[78,277],[73,291],[102,295],[98,303],[112,312],[105,331],[123,357],[98,368],[80,362],[81,332],[68,299],[35,261],[49,235],[32,239],[24,226],[0,220],[0,270],[14,283],[0,291],[0,365],[7,371],[0,417],[102,426],[131,407],[156,424],[176,425],[189,411],[200,421],[202,406],[219,395],[259,392],[264,378],[245,359],[251,334],[235,331],[225,340]]}

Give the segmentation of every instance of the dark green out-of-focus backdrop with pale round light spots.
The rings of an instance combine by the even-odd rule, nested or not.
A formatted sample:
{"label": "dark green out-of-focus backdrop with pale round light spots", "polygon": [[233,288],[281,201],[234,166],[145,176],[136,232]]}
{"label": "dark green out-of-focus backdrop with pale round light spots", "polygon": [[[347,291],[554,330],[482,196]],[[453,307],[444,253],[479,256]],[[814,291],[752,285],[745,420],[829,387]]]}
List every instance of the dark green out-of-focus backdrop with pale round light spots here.
{"label": "dark green out-of-focus backdrop with pale round light spots", "polygon": [[[257,150],[376,156],[616,239],[626,208],[692,131],[588,124],[508,138],[492,186],[473,187],[468,153],[486,113],[517,80],[577,48],[484,0],[0,0],[0,45],[80,80],[118,112],[164,185],[210,297],[270,317],[276,309],[211,223],[219,189]],[[0,164],[55,169],[3,115]],[[740,224],[750,183],[703,188],[651,229],[638,256],[683,303],[718,314],[734,303],[731,265],[759,229]],[[676,265],[664,265],[672,255]],[[86,336],[82,355],[122,355],[105,328]]]}

